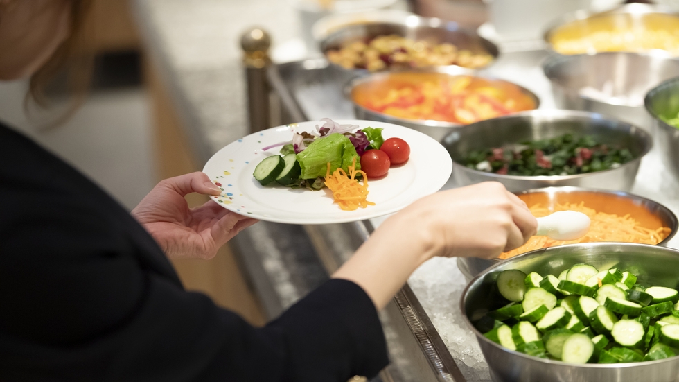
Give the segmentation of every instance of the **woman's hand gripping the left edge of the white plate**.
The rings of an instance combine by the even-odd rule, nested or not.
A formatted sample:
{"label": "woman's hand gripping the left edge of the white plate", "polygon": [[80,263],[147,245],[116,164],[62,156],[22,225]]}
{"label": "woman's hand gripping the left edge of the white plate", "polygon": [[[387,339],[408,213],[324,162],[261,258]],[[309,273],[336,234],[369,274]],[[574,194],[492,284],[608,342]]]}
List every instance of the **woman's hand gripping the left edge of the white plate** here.
{"label": "woman's hand gripping the left edge of the white plate", "polygon": [[204,173],[170,177],[157,184],[132,210],[132,216],[155,238],[170,258],[211,259],[238,232],[258,220],[231,212],[213,200],[189,209],[188,193],[219,195]]}

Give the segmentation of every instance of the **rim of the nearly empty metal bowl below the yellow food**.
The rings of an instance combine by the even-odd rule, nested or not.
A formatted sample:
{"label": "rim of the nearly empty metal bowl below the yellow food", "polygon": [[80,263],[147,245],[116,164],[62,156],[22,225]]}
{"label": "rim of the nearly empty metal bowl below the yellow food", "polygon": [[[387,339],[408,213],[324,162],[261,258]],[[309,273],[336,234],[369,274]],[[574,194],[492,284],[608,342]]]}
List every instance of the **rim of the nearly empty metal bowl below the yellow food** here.
{"label": "rim of the nearly empty metal bowl below the yellow food", "polygon": [[[679,19],[679,17],[678,17]],[[631,106],[631,105],[624,105],[622,103],[610,103],[610,102],[604,102],[598,99],[590,98],[588,96],[583,96],[581,95],[578,90],[579,89],[573,89],[572,87],[566,87],[561,85],[561,83],[558,83],[558,76],[554,76],[554,68],[557,67],[558,65],[567,65],[570,64],[571,62],[574,62],[576,60],[582,60],[583,58],[585,59],[595,59],[596,57],[603,57],[603,56],[608,56],[608,55],[629,55],[629,56],[637,56],[639,58],[644,58],[644,59],[658,59],[658,60],[667,60],[669,62],[674,62],[677,67],[679,67],[679,60],[676,58],[673,58],[672,55],[669,53],[661,53],[659,51],[648,51],[648,52],[597,52],[597,53],[582,53],[582,54],[572,54],[572,55],[549,55],[545,60],[543,60],[542,67],[543,67],[543,73],[545,74],[545,77],[549,80],[550,83],[552,83],[552,86],[558,86],[561,89],[563,89],[564,92],[570,95],[578,96],[579,98],[585,99],[590,102],[594,103],[599,103],[602,105],[611,105],[611,106],[623,106],[623,107],[642,107],[642,105],[638,106]],[[666,82],[667,80],[663,81],[662,83]],[[661,84],[662,84],[661,83]],[[655,87],[653,88],[655,89]],[[651,92],[649,90],[649,92]],[[648,95],[648,93],[646,93]],[[644,97],[645,99],[645,97]],[[645,103],[645,101],[644,101]]]}

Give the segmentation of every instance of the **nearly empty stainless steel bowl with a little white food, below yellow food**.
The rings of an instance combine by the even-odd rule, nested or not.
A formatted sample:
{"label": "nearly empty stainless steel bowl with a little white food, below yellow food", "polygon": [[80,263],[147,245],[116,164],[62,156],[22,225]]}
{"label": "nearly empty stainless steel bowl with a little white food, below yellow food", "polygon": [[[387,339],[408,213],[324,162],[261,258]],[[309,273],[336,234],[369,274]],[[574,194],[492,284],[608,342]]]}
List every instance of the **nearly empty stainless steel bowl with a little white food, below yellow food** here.
{"label": "nearly empty stainless steel bowl with a little white food, below yellow food", "polygon": [[[552,56],[543,64],[560,109],[615,116],[651,131],[644,96],[668,78],[679,76],[679,60],[637,53]],[[588,93],[596,89],[600,94]]]}

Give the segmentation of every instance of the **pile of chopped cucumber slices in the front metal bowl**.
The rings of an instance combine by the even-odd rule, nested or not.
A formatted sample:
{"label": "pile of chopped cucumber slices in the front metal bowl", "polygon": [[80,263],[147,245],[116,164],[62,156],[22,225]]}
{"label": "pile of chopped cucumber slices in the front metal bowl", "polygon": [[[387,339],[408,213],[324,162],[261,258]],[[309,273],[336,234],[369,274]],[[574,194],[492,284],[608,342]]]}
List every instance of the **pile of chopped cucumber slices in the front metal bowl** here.
{"label": "pile of chopped cucumber slices in the front metal bowl", "polygon": [[646,288],[616,268],[577,264],[554,275],[504,270],[509,302],[476,327],[493,342],[567,363],[630,363],[679,355],[679,293]]}

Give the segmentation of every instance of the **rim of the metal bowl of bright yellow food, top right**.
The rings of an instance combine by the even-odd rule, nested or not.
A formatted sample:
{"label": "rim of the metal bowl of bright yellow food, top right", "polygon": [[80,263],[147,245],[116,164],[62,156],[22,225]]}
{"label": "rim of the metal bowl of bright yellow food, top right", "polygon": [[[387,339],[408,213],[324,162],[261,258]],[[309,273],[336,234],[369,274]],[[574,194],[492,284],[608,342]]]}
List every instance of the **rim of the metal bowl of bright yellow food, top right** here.
{"label": "rim of the metal bowl of bright yellow food, top right", "polygon": [[[674,15],[679,17],[679,11],[673,10],[669,6],[664,6],[661,4],[644,4],[644,3],[628,3],[623,4],[612,10],[607,10],[605,12],[592,12],[590,10],[576,10],[575,12],[569,12],[562,17],[552,21],[545,28],[545,33],[543,33],[543,40],[547,50],[562,55],[554,50],[554,46],[549,42],[549,37],[556,31],[556,29],[561,26],[566,26],[574,21],[582,21],[586,19],[594,19],[595,17],[606,17],[612,15],[651,15],[653,13],[660,13],[663,15]],[[603,53],[603,52],[598,52]]]}

